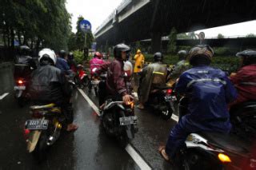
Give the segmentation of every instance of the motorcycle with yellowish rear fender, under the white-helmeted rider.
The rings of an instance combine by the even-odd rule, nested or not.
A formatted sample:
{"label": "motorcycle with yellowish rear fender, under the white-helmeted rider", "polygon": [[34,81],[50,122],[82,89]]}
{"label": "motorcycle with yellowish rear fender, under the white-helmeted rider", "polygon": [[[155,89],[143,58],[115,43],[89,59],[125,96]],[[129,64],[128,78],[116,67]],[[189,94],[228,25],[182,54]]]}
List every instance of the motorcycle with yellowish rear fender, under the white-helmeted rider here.
{"label": "motorcycle with yellowish rear fender, under the white-helmeted rider", "polygon": [[27,151],[42,161],[46,149],[58,140],[65,117],[55,104],[30,106],[31,120],[26,121],[24,136]]}

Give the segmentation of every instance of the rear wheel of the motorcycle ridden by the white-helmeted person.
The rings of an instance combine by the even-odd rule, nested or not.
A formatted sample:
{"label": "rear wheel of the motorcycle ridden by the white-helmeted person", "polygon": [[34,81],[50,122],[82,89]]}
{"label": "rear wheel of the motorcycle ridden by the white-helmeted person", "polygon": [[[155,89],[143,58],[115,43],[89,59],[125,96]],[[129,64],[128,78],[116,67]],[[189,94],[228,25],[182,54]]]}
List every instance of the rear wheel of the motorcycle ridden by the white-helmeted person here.
{"label": "rear wheel of the motorcycle ridden by the white-helmeted person", "polygon": [[38,140],[38,144],[34,148],[33,156],[39,163],[46,160],[46,148],[47,148],[47,135],[46,131],[42,131],[41,136]]}

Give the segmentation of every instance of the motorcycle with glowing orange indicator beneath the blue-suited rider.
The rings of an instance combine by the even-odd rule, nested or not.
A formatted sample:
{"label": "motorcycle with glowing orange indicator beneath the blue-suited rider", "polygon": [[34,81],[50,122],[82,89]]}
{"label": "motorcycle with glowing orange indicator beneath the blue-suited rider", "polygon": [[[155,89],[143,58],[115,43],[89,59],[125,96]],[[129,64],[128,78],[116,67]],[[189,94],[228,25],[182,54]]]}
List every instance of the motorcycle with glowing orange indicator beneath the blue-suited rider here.
{"label": "motorcycle with glowing orange indicator beneath the blue-suited rider", "polygon": [[[186,97],[179,105],[184,111],[186,101],[182,100]],[[256,156],[250,153],[250,143],[238,136],[197,132],[186,138],[185,146],[175,154],[174,164],[178,169],[255,169]]]}

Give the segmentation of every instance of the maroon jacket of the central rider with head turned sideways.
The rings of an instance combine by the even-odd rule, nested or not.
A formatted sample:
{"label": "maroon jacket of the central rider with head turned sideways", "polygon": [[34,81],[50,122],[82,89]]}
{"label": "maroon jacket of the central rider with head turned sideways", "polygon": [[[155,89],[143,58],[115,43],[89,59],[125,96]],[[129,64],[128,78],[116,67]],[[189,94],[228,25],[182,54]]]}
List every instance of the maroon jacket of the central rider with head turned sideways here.
{"label": "maroon jacket of the central rider with head turned sideways", "polygon": [[112,62],[104,63],[97,71],[97,73],[107,71],[106,88],[111,95],[120,94],[124,96],[127,94],[123,65],[123,61],[115,59]]}

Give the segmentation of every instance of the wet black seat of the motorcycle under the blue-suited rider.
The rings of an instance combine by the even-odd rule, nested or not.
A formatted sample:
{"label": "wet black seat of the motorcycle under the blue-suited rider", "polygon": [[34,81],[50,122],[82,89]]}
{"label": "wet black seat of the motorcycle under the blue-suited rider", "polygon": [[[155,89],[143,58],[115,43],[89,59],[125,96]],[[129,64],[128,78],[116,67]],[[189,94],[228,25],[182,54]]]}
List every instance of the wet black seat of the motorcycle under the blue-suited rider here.
{"label": "wet black seat of the motorcycle under the blue-suited rider", "polygon": [[242,155],[249,153],[250,144],[242,141],[241,138],[238,138],[238,136],[233,134],[221,132],[200,132],[198,134],[205,138],[208,144],[221,148],[224,151],[234,152]]}

